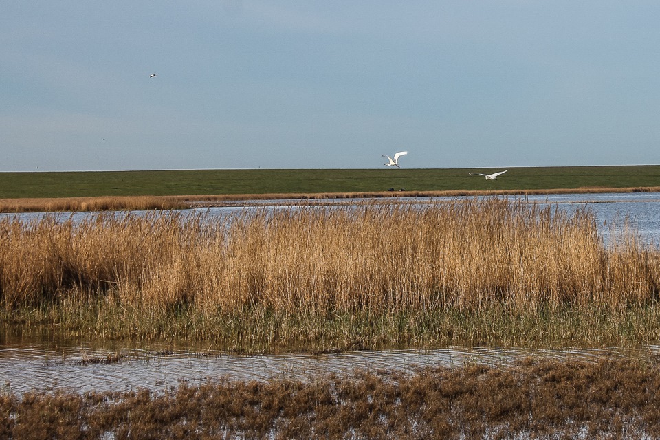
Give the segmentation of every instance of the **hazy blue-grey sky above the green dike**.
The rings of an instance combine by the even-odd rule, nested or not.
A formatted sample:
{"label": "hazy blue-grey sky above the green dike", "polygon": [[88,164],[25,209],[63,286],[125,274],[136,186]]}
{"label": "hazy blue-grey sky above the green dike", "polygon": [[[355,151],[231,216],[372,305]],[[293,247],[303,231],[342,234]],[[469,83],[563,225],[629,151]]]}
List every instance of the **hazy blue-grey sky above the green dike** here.
{"label": "hazy blue-grey sky above the green dike", "polygon": [[657,17],[650,0],[5,0],[0,171],[660,164]]}

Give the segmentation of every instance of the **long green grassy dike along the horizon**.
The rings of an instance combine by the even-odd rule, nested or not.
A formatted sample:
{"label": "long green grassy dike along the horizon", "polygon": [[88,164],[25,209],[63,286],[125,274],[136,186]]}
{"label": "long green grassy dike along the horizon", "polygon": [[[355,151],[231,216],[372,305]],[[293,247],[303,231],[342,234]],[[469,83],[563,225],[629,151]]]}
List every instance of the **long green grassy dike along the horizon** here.
{"label": "long green grassy dike along the horizon", "polygon": [[509,168],[502,177],[489,181],[468,174],[498,170],[501,168],[0,173],[0,198],[660,186],[657,165]]}

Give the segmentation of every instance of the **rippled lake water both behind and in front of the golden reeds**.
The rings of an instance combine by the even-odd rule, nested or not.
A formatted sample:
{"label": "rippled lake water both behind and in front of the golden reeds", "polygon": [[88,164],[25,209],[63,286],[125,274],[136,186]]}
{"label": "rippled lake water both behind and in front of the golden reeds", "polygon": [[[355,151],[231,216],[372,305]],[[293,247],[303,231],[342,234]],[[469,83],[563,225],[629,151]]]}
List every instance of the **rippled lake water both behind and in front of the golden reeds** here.
{"label": "rippled lake water both behind and in front of the golden reeds", "polygon": [[[518,197],[509,197],[518,199]],[[432,199],[404,199],[427,203]],[[622,228],[624,221],[639,234],[641,241],[660,243],[660,194],[542,195],[522,198],[527,203],[550,203],[573,212],[586,208],[593,212],[604,241]],[[267,206],[272,209],[299,201],[250,201],[233,206],[196,208],[210,218],[225,217],[238,210]],[[312,202],[313,203],[313,202]],[[347,204],[346,199],[322,203]],[[2,214],[14,217],[14,214]],[[26,221],[44,214],[20,214]],[[83,219],[94,213],[61,214],[62,218]],[[3,391],[128,391],[150,388],[164,391],[181,382],[201,384],[227,376],[239,380],[265,380],[270,377],[309,379],[325,373],[351,373],[355,369],[412,370],[423,366],[457,366],[466,362],[512,364],[523,358],[597,360],[604,357],[657,355],[660,347],[622,349],[564,348],[558,350],[511,349],[502,347],[447,347],[420,350],[360,351],[309,355],[228,355],[204,347],[173,347],[171,344],[131,344],[58,340],[52,336],[21,337],[0,329],[0,387]],[[107,360],[113,362],[107,362]],[[96,362],[100,361],[100,362]]]}

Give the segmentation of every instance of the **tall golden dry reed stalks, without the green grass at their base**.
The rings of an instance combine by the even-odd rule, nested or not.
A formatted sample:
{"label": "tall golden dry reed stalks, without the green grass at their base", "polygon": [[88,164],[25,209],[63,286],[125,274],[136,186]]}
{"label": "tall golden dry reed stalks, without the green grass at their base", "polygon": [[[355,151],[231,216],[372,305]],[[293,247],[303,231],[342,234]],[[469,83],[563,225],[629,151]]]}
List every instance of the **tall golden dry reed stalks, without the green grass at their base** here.
{"label": "tall golden dry reed stalks, without the green grass at their base", "polygon": [[659,262],[632,232],[606,248],[587,211],[506,199],[0,221],[5,310],[72,296],[203,314],[620,309],[657,298]]}

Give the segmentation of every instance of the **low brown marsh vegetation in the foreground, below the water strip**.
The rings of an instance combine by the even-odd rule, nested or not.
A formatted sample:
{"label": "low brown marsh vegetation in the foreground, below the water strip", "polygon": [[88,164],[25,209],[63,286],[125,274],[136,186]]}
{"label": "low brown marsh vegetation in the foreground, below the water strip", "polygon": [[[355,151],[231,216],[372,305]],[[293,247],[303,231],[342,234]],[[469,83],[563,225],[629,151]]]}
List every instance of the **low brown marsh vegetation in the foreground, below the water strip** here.
{"label": "low brown marsh vegetation in the foreground, below the water strip", "polygon": [[660,436],[657,362],[527,360],[168,393],[0,395],[12,439],[557,439]]}

